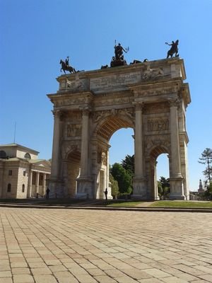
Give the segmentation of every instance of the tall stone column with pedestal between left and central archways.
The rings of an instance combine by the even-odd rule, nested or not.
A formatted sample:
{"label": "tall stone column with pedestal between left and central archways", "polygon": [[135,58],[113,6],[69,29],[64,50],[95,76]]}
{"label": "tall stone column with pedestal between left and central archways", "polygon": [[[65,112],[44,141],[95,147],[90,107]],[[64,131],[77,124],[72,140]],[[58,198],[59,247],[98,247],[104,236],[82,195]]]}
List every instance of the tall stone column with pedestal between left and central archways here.
{"label": "tall stone column with pedestal between left and central archways", "polygon": [[93,199],[92,180],[88,168],[89,139],[89,113],[88,108],[82,111],[82,135],[81,135],[81,173],[77,179],[76,198]]}

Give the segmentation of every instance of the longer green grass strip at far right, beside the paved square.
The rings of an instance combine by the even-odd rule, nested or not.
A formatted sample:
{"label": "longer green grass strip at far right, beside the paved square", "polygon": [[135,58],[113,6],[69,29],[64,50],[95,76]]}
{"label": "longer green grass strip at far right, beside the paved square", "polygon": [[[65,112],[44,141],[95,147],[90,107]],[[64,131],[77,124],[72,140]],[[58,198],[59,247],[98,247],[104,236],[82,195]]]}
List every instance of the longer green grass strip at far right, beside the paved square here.
{"label": "longer green grass strip at far right, beside the paved square", "polygon": [[188,208],[212,208],[212,202],[193,202],[193,201],[179,201],[179,200],[160,200],[154,202],[149,207],[188,207]]}

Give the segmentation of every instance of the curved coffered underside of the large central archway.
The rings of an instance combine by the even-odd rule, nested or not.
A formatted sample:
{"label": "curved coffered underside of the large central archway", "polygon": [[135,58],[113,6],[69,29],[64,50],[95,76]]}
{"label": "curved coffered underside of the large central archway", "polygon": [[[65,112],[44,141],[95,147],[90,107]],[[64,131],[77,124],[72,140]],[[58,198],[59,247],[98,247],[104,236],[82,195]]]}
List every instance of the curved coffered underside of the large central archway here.
{"label": "curved coffered underside of the large central archway", "polygon": [[132,128],[134,129],[134,120],[128,115],[108,115],[107,117],[102,117],[98,125],[95,127],[94,135],[103,137],[104,139],[110,140],[112,134],[118,129],[122,128]]}

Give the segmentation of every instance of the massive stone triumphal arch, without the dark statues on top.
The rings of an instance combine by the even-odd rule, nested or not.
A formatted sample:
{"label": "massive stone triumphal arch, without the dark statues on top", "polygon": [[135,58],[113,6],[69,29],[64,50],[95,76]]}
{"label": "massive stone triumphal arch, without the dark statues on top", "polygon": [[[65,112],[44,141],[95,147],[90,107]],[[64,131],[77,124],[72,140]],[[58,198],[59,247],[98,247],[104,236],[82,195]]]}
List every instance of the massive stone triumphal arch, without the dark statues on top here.
{"label": "massive stone triumphal arch, without the dark statues on top", "polygon": [[[158,200],[156,159],[167,154],[170,199],[189,200],[186,109],[191,102],[179,57],[134,62],[57,78],[50,196],[102,199],[110,137],[134,129],[132,197]],[[120,147],[122,141],[120,141]],[[127,152],[126,152],[127,154]]]}

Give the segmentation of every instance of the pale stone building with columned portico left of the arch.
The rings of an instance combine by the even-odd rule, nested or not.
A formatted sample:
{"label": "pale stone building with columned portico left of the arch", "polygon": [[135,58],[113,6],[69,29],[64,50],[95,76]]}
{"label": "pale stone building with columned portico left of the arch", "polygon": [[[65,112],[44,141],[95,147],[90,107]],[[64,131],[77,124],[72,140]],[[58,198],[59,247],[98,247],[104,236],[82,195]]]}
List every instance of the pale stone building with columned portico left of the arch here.
{"label": "pale stone building with columned portico left of the arch", "polygon": [[0,145],[0,198],[45,196],[51,166],[38,154],[19,144]]}

